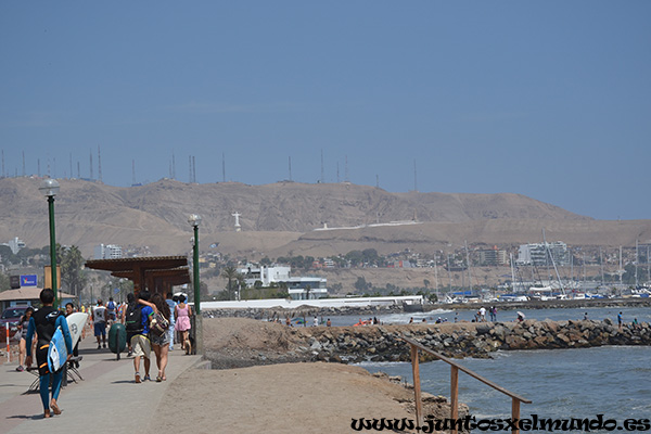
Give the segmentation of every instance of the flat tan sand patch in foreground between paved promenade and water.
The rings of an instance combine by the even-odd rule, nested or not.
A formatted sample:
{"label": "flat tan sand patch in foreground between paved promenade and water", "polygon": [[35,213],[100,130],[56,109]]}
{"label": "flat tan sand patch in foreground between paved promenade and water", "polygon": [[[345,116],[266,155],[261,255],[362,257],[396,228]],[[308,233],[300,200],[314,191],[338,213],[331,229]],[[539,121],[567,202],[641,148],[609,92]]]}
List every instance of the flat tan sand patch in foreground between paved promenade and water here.
{"label": "flat tan sand patch in foreground between paved promenade and water", "polygon": [[339,363],[194,369],[168,392],[150,432],[347,433],[353,418],[413,418],[405,387]]}

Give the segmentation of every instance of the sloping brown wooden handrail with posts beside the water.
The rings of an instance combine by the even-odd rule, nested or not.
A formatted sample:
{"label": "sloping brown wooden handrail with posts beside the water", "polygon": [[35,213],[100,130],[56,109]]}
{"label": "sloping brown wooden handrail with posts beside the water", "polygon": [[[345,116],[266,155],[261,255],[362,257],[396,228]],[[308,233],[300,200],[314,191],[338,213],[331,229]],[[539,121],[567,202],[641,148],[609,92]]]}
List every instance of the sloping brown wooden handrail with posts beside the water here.
{"label": "sloping brown wooden handrail with posts beside the water", "polygon": [[[418,350],[421,349],[427,354],[431,354],[432,356],[436,357],[437,359],[445,361],[446,363],[448,363],[451,367],[451,376],[450,376],[450,419],[452,421],[457,420],[458,418],[458,407],[459,407],[459,371],[463,371],[467,374],[469,374],[470,376],[481,381],[482,383],[495,388],[498,392],[501,392],[502,394],[510,396],[511,397],[511,419],[512,420],[516,420],[520,419],[520,403],[524,403],[524,404],[532,404],[531,399],[524,398],[518,394],[514,394],[513,392],[492,382],[490,380],[487,380],[485,378],[483,378],[482,375],[480,375],[478,373],[475,373],[473,371],[471,371],[470,369],[457,363],[456,361],[452,361],[450,359],[448,359],[447,357],[427,348],[426,346],[422,345],[421,343],[413,341],[409,337],[406,336],[400,336],[400,339],[405,342],[407,342],[410,347],[411,347],[411,370],[412,370],[412,374],[413,374],[413,393],[414,393],[414,400],[416,400],[416,419],[417,422],[419,423],[419,425],[422,425],[422,401],[421,401],[421,390],[420,390],[420,368],[419,368],[419,358],[418,358]],[[452,424],[452,429],[450,430],[451,433],[456,434],[457,433],[457,425]],[[513,429],[513,433],[518,434],[520,433],[520,430],[518,430],[516,427]]]}

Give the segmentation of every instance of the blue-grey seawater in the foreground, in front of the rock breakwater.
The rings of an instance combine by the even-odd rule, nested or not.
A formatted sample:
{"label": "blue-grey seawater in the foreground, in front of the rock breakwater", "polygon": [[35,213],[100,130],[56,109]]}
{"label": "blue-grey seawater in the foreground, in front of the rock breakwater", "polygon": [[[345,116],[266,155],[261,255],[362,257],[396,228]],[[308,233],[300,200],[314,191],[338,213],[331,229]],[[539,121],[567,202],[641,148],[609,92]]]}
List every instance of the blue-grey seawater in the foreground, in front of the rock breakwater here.
{"label": "blue-grey seawater in the foreground, in front of the rock breakwater", "polygon": [[[493,359],[459,363],[532,399],[521,405],[521,418],[651,419],[651,347],[607,346],[577,349],[497,352]],[[411,363],[363,362],[370,372],[383,371],[412,382]],[[421,387],[450,396],[450,367],[443,361],[420,365]],[[481,418],[508,418],[511,398],[459,373],[459,400]],[[601,431],[593,431],[601,432]],[[605,432],[605,431],[602,431]]]}

